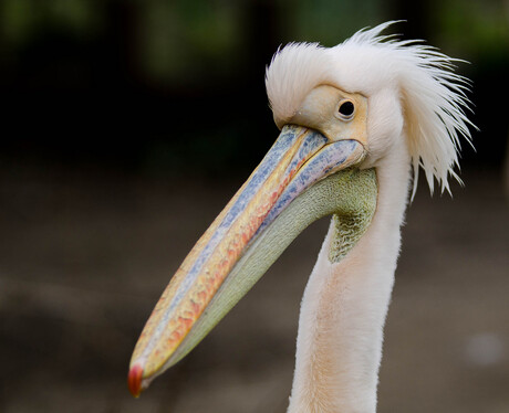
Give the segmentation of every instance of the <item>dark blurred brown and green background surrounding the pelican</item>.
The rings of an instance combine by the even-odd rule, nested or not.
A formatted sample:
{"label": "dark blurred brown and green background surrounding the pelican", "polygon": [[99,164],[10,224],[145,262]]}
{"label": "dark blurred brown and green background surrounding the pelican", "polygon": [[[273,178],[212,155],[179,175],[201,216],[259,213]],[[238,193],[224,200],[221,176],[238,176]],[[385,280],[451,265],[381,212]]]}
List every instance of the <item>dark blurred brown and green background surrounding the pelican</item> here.
{"label": "dark blurred brown and green background surrounding the pelican", "polygon": [[378,411],[509,412],[507,0],[1,0],[0,411],[284,412],[326,220],[139,400],[131,352],[278,135],[277,47],[395,19],[470,62],[480,131],[407,213]]}

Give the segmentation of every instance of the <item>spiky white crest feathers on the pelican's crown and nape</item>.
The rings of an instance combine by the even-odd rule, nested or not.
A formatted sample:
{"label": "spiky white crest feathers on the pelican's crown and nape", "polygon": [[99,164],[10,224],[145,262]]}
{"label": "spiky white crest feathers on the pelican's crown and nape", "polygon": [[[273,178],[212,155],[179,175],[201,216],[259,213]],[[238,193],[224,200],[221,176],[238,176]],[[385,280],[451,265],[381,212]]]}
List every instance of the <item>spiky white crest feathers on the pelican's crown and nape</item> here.
{"label": "spiky white crest feathers on the pelican's crown and nape", "polygon": [[[355,33],[335,47],[290,43],[267,68],[266,85],[276,119],[290,119],[314,87],[329,84],[374,98],[383,91],[397,96],[414,169],[414,193],[423,168],[433,192],[434,178],[449,190],[458,179],[460,137],[470,141],[465,115],[468,81],[455,74],[456,60],[415,41],[380,33],[392,22]],[[368,115],[370,116],[370,115]],[[459,179],[458,179],[459,180]]]}

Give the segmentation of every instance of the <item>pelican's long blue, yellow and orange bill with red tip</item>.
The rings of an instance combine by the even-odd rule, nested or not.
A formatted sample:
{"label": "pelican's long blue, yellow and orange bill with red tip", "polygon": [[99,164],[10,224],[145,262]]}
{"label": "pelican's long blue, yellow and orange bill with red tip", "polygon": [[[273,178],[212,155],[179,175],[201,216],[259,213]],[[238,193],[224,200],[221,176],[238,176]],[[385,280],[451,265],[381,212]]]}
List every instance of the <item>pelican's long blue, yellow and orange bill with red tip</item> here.
{"label": "pelican's long blue, yellow and orange bill with red tip", "polygon": [[[186,356],[305,226],[336,212],[337,182],[323,188],[329,178],[359,165],[364,156],[356,140],[333,141],[294,125],[282,128],[157,303],[131,361],[128,386],[134,396]],[[341,173],[350,173],[352,180],[355,171],[362,173],[353,168]],[[318,187],[321,192],[313,193]]]}

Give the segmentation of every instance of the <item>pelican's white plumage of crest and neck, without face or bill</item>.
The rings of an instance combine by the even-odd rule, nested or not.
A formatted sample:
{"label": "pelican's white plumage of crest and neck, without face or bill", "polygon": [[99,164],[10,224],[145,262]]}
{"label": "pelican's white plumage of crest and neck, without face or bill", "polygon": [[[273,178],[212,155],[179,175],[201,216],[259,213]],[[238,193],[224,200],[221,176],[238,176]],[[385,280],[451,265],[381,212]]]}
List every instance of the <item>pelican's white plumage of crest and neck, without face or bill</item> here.
{"label": "pelican's white plumage of crest and neck, without face or bill", "polygon": [[367,97],[367,150],[378,203],[373,222],[340,263],[328,260],[333,223],[301,305],[289,413],[375,412],[383,327],[401,246],[401,225],[413,168],[413,195],[422,167],[449,191],[459,180],[460,137],[470,142],[465,115],[468,81],[456,60],[417,42],[380,33],[392,22],[360,31],[335,47],[292,43],[278,51],[266,84],[278,125],[288,123],[320,84]]}

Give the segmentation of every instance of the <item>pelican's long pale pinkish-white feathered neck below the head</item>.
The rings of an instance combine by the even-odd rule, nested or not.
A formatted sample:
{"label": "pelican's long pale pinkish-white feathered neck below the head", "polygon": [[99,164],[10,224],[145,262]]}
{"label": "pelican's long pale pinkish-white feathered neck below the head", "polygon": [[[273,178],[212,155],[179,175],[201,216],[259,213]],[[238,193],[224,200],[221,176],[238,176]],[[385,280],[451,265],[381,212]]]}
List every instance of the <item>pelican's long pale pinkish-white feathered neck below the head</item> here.
{"label": "pelican's long pale pinkish-white feathered neck below the head", "polygon": [[325,237],[301,304],[289,413],[375,412],[409,177],[401,146],[377,167],[377,209],[357,245],[331,264]]}

